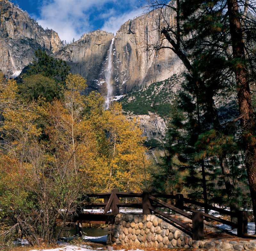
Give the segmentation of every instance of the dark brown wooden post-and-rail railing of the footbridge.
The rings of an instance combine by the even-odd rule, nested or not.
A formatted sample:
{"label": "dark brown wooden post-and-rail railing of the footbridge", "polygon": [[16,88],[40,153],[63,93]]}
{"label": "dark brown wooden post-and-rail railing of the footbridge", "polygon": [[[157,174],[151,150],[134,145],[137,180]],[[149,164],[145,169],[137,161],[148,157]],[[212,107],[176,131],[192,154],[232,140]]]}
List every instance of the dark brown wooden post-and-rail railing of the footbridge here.
{"label": "dark brown wooden post-and-rail railing of the footbridge", "polygon": [[[152,192],[143,192],[143,193],[127,193],[127,192],[119,192],[118,189],[112,189],[111,193],[99,193],[99,194],[89,194],[87,197],[98,197],[104,198],[104,203],[87,203],[84,204],[84,207],[104,207],[103,214],[107,215],[108,211],[112,209],[111,214],[118,214],[119,207],[130,207],[130,208],[142,208],[143,214],[152,214],[155,212],[156,214],[161,215],[162,217],[168,219],[169,221],[174,222],[175,224],[179,225],[180,227],[184,228],[186,231],[192,234],[193,240],[201,240],[204,238],[204,218],[209,218],[220,223],[232,226],[237,228],[237,235],[244,236],[247,233],[247,211],[238,211],[238,212],[230,212],[228,210],[224,210],[221,208],[213,207],[208,204],[200,203],[194,200],[190,200],[184,198],[182,194],[167,195],[167,194],[160,194],[160,193],[152,193]],[[121,203],[119,202],[119,198],[123,197],[139,197],[142,198],[142,203]],[[168,204],[158,198],[167,198],[167,199],[174,199],[175,205]],[[210,210],[214,210],[220,212],[221,214],[226,214],[232,217],[237,218],[237,223],[233,223],[228,220],[224,220],[213,215],[204,213],[202,211],[198,211],[192,209],[186,204],[192,204],[196,206],[200,206],[202,208],[207,208]],[[180,215],[189,218],[192,220],[192,227],[181,222],[180,220],[173,218],[167,213],[157,209],[157,207],[161,208],[168,208],[170,210],[179,213]],[[184,210],[191,212],[187,213]]]}

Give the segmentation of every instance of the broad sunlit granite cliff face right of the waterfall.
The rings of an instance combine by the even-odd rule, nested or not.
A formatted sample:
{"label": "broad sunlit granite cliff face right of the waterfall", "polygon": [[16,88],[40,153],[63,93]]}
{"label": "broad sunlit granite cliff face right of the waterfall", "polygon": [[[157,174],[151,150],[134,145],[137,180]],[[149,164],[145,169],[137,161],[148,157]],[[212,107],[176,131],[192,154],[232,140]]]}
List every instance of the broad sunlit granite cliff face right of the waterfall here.
{"label": "broad sunlit granite cliff face right of the waterfall", "polygon": [[[170,9],[165,14],[165,18],[170,20],[174,17]],[[180,60],[172,50],[161,49],[156,53],[147,49],[161,41],[157,29],[162,22],[160,17],[157,11],[152,11],[127,21],[116,33],[113,82],[117,95],[141,89],[183,70]],[[165,43],[162,45],[168,46]]]}

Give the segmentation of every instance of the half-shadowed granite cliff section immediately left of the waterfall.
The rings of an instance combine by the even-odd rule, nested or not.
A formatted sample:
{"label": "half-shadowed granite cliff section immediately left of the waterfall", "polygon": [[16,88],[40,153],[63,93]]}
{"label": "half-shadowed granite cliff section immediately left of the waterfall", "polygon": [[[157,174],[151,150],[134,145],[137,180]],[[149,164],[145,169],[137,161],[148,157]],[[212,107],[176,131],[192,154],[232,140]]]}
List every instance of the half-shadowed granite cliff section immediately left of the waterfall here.
{"label": "half-shadowed granite cliff section immediately left of the waterfall", "polygon": [[52,56],[67,61],[72,73],[87,79],[87,92],[99,90],[105,94],[106,85],[102,85],[105,80],[99,77],[104,77],[105,61],[113,37],[112,33],[93,31],[84,34],[80,40],[66,45]]}

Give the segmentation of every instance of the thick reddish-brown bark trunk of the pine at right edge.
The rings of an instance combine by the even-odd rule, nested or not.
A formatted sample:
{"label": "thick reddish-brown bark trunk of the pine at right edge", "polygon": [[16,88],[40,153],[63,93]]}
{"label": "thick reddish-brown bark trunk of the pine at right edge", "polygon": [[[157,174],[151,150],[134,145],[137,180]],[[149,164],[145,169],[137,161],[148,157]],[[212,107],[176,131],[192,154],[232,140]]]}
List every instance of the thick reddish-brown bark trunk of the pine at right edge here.
{"label": "thick reddish-brown bark trunk of the pine at right edge", "polygon": [[236,62],[236,65],[233,66],[233,70],[236,75],[239,112],[240,115],[244,115],[243,119],[241,119],[244,162],[251,191],[254,222],[256,224],[256,139],[254,137],[255,121],[251,103],[249,74],[245,62],[244,42],[238,3],[237,0],[227,0],[227,4],[233,58]]}

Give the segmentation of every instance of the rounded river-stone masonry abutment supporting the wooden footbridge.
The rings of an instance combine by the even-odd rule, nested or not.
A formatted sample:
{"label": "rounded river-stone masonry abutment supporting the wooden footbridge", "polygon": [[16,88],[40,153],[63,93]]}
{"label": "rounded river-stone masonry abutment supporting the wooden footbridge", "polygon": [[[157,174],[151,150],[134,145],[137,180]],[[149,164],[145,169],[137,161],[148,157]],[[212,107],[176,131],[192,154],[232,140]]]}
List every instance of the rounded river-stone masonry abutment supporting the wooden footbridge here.
{"label": "rounded river-stone masonry abutment supporting the wooden footbridge", "polygon": [[117,214],[107,244],[135,247],[192,247],[192,238],[156,215]]}

